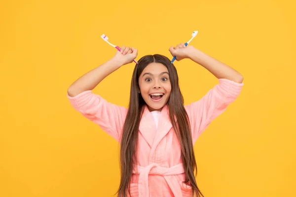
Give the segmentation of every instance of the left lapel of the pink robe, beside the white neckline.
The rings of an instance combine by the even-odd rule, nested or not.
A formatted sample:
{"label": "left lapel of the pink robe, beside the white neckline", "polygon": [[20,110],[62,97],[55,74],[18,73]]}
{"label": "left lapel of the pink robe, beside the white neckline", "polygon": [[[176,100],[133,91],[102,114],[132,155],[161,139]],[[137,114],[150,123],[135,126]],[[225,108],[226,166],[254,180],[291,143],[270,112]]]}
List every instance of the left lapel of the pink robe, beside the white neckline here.
{"label": "left lapel of the pink robe, beside the white neckline", "polygon": [[153,144],[153,138],[156,132],[156,124],[147,106],[145,106],[143,111],[142,119],[139,125],[139,131],[141,132],[141,134],[143,135],[143,137],[145,138],[145,140],[151,148]]}

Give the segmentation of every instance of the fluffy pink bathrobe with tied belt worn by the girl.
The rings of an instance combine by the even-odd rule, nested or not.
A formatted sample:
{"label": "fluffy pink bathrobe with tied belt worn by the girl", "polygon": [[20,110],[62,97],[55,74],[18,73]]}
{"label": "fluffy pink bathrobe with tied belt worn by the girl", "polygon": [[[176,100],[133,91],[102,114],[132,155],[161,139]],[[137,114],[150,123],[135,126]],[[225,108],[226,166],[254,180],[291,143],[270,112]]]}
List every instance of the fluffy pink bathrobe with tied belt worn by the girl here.
{"label": "fluffy pink bathrobe with tied belt worn by the girl", "polygon": [[[193,144],[211,121],[238,97],[243,85],[219,79],[219,84],[203,98],[185,105]],[[67,97],[77,111],[119,142],[127,113],[125,107],[112,104],[90,90]],[[173,131],[167,105],[161,110],[157,129],[152,114],[145,107],[139,126],[137,165],[130,185],[131,197],[191,197],[191,188],[182,183],[185,173],[181,147]]]}

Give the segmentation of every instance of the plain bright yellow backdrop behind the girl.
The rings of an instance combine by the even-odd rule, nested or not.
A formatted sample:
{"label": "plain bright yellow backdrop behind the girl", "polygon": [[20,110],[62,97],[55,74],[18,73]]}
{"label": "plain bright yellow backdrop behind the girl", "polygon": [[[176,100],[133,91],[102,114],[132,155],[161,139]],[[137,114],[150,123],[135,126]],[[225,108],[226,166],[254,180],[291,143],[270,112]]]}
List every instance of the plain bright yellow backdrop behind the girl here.
{"label": "plain bright yellow backdrop behind the girl", "polygon": [[[245,86],[197,140],[205,197],[295,197],[296,6],[293,0],[14,0],[0,3],[0,197],[111,197],[118,143],[70,105],[67,88],[110,59],[186,42],[238,70]],[[185,104],[218,80],[175,62]],[[94,89],[127,106],[135,64]]]}

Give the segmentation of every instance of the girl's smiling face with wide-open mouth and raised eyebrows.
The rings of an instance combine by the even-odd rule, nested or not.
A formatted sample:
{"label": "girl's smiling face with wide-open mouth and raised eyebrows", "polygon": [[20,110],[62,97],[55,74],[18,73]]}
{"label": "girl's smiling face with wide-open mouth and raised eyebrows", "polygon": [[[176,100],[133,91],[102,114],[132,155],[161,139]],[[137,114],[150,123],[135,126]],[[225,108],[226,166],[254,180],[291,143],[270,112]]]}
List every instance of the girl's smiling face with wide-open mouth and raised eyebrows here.
{"label": "girl's smiling face with wide-open mouth and raised eyebrows", "polygon": [[[171,94],[169,71],[160,63],[151,63],[145,67],[139,77],[139,86],[149,111],[161,111]],[[158,93],[161,95],[153,95]]]}

